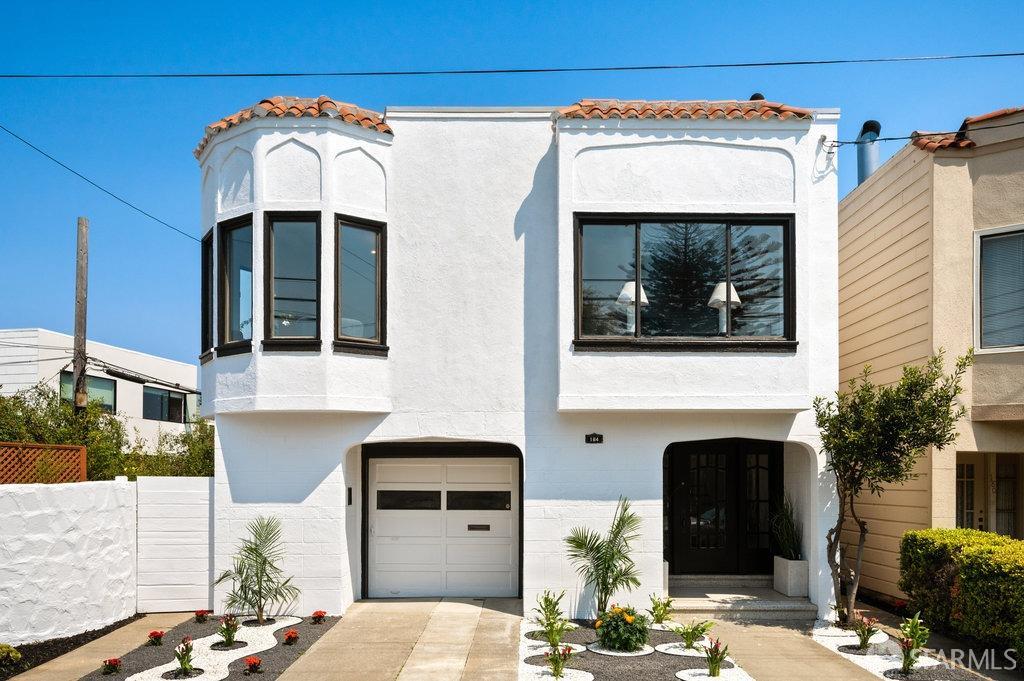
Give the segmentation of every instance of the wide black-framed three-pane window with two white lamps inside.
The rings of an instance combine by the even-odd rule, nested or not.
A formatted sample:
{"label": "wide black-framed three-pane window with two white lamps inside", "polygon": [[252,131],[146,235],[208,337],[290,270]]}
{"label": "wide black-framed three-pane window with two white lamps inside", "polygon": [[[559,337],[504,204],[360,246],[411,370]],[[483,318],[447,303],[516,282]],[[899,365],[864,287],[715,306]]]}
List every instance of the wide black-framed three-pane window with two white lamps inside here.
{"label": "wide black-framed three-pane window with two white lamps inside", "polygon": [[796,347],[792,215],[574,222],[577,349]]}

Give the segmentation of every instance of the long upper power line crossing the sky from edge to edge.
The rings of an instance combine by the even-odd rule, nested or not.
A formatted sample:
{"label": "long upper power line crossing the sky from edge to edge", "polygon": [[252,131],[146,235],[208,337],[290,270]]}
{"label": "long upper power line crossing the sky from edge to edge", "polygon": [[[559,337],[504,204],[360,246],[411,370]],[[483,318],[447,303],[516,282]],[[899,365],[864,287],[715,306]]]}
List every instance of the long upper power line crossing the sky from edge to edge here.
{"label": "long upper power line crossing the sky from edge to edge", "polygon": [[973,54],[934,54],[879,56],[842,59],[793,59],[779,61],[736,61],[723,63],[659,63],[604,67],[538,67],[513,69],[421,69],[401,71],[319,71],[319,72],[179,72],[179,73],[51,73],[0,74],[0,79],[152,79],[152,78],[388,78],[418,76],[499,76],[514,74],[580,74],[636,71],[691,71],[700,69],[761,69],[768,67],[813,67],[844,63],[893,63],[904,61],[948,61],[953,59],[995,59],[1024,56],[1024,52],[978,52]]}

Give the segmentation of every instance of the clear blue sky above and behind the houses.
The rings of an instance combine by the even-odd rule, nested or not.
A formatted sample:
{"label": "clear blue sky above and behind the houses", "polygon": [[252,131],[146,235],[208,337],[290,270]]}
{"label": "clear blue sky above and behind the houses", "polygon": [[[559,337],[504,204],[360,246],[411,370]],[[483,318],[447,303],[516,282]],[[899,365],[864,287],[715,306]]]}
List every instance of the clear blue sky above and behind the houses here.
{"label": "clear blue sky above and behind the houses", "polygon": [[[102,7],[99,9],[99,7]],[[12,3],[0,71],[324,71],[690,63],[1020,51],[1017,2]],[[581,97],[839,107],[840,135],[955,129],[1024,104],[1024,59],[556,76],[0,81],[0,123],[199,235],[191,150],[212,120],[272,94],[399,104]],[[883,147],[887,158],[901,142]],[[91,228],[89,336],[191,361],[199,247],[0,134],[0,327],[70,332],[75,219]],[[856,181],[840,156],[841,194]]]}

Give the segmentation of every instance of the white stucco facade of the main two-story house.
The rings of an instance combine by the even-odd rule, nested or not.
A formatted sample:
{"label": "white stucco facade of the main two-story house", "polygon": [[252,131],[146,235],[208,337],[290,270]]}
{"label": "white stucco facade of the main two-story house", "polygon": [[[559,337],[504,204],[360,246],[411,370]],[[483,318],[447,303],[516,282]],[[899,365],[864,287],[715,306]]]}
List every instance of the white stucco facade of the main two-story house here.
{"label": "white stucco facade of the main two-story house", "polygon": [[[258,226],[263,210],[313,206],[324,211],[325,225],[334,212],[386,219],[390,346],[387,357],[335,353],[329,343],[313,354],[262,353],[262,232],[255,230],[253,352],[203,367],[205,403],[218,426],[217,568],[248,518],[280,515],[288,567],[304,591],[299,609],[342,609],[359,597],[361,443],[511,442],[524,457],[526,602],[544,589],[565,588],[578,611],[587,612],[561,540],[573,524],[605,528],[625,495],[644,517],[636,555],[643,583],[620,600],[644,605],[663,589],[666,448],[752,437],[787,441],[787,453],[797,448],[806,455],[788,454],[786,463],[806,470],[786,479],[805,509],[811,597],[827,614],[818,525],[831,492],[819,482],[823,460],[807,410],[814,395],[836,389],[838,375],[836,176],[818,141],[823,133],[835,136],[835,115],[799,124],[674,121],[656,131],[646,121],[609,131],[559,123],[556,131],[550,114],[390,110],[394,137],[383,141],[319,119],[263,121],[214,137],[201,159],[204,172],[220,172],[228,150],[245,146],[254,200],[205,213],[207,226],[250,211]],[[314,174],[305,171],[301,187],[274,189],[292,187],[293,195],[274,194],[272,201],[260,195],[265,150],[286,136],[317,154],[318,203],[310,200]],[[352,146],[381,164],[381,213],[367,212],[364,204],[374,200],[346,200],[342,207],[333,196],[335,187],[351,185],[332,179],[350,174],[347,164],[359,159],[366,167],[358,154],[336,153]],[[606,146],[614,148],[574,168],[578,152]],[[294,155],[304,161],[289,163],[309,163],[304,154]],[[686,170],[691,163],[702,172]],[[630,176],[609,184],[595,175],[602,168]],[[676,171],[681,179],[665,176]],[[737,184],[736,177],[748,175],[749,182]],[[372,188],[376,182],[367,180],[371,196],[381,194]],[[222,184],[208,179],[204,186]],[[798,349],[573,353],[566,295],[578,210],[796,214]],[[325,230],[325,259],[333,259],[331,239]],[[333,261],[324,265],[325,273],[333,271]],[[327,321],[333,276],[325,275],[322,293]],[[592,431],[604,434],[603,444],[584,443]],[[353,506],[346,504],[348,486]]]}

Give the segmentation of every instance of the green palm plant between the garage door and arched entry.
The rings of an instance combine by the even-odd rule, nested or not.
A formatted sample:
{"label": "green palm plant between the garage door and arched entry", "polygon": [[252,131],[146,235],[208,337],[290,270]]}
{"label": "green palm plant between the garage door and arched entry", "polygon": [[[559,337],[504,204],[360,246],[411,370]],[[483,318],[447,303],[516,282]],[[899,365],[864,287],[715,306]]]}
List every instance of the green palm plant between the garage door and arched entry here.
{"label": "green palm plant between the garage door and arched entry", "polygon": [[615,515],[606,535],[590,527],[573,527],[565,538],[569,560],[587,586],[594,587],[597,611],[608,609],[608,599],[620,589],[640,586],[640,572],[630,558],[630,542],[640,538],[640,516],[630,510],[630,501],[618,498]]}

